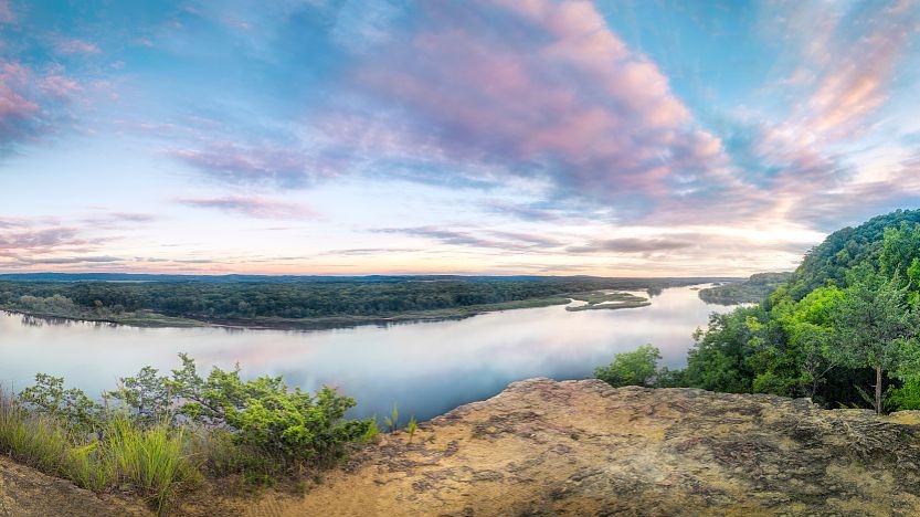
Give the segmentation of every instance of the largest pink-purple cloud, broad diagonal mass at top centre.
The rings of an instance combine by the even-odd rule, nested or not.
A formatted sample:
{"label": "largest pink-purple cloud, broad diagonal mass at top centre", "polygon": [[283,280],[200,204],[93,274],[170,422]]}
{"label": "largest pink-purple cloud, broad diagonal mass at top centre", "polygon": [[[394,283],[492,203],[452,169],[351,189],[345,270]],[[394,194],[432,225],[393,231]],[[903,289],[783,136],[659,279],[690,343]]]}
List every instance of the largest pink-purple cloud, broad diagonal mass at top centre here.
{"label": "largest pink-purple cloud, broad diagonal mass at top centre", "polygon": [[[728,166],[719,138],[695,126],[667,77],[592,3],[474,1],[422,10],[420,32],[352,76],[363,98],[398,106],[364,122],[357,141],[368,151],[405,143],[406,156],[434,150],[457,162],[498,163],[601,200],[668,196],[674,175],[718,176]],[[373,138],[381,134],[387,138]]]}

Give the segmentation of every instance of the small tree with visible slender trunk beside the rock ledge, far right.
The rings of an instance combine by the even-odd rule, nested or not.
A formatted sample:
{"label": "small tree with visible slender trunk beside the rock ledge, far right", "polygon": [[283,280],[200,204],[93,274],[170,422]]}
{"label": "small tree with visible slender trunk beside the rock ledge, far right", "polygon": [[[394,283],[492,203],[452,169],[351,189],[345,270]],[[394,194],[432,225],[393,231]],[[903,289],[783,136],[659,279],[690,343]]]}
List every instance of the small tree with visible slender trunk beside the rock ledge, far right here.
{"label": "small tree with visible slender trunk beside the rock ledge, far right", "polygon": [[898,275],[885,277],[867,268],[855,273],[835,309],[837,346],[831,357],[849,368],[876,372],[874,405],[882,411],[882,376],[906,359],[905,344],[917,331],[917,315],[906,300]]}

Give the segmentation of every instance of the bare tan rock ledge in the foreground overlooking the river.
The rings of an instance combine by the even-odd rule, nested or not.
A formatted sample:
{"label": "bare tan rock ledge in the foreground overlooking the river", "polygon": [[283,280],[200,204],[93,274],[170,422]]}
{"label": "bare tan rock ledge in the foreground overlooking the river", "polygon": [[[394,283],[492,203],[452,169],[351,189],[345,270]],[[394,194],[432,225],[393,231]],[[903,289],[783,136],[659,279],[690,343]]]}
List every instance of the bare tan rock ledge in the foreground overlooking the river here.
{"label": "bare tan rock ledge in the foreground overlooking the river", "polygon": [[250,515],[920,515],[920,418],[530,379]]}

